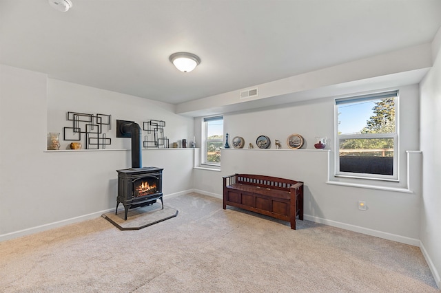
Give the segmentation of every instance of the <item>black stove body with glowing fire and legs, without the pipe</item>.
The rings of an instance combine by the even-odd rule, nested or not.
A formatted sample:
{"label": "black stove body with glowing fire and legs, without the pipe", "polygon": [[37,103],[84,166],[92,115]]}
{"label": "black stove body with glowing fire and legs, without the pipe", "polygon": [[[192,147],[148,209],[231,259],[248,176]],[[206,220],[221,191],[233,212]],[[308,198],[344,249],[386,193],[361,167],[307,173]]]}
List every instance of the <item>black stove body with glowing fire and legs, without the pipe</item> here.
{"label": "black stove body with glowing fire and legs, without the pipe", "polygon": [[118,197],[116,197],[116,210],[120,203],[124,206],[124,219],[130,208],[154,204],[156,199],[163,204],[163,169],[156,167],[143,167],[116,170],[118,172]]}

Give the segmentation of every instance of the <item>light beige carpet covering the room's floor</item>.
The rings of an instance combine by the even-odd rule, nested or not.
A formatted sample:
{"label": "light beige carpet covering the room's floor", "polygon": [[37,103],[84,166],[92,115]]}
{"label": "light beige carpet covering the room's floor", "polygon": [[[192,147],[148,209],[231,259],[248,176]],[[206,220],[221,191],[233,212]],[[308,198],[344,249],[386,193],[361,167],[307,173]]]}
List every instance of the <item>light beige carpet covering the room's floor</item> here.
{"label": "light beige carpet covering the room's floor", "polygon": [[222,209],[192,193],[177,217],[121,231],[102,217],[0,243],[0,292],[438,292],[420,249]]}

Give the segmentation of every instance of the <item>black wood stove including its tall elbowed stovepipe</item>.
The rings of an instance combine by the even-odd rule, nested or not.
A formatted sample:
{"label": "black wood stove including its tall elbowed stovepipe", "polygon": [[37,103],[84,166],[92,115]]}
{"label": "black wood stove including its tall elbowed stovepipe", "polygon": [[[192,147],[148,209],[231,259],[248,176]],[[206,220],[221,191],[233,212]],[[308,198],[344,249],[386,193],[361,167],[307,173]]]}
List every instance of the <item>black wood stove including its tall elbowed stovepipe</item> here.
{"label": "black wood stove including its tall elbowed stovepipe", "polygon": [[118,172],[118,197],[115,215],[120,203],[124,206],[124,219],[130,208],[154,204],[156,199],[163,204],[163,169],[142,167],[141,127],[132,121],[116,120],[116,137],[132,138],[132,168]]}

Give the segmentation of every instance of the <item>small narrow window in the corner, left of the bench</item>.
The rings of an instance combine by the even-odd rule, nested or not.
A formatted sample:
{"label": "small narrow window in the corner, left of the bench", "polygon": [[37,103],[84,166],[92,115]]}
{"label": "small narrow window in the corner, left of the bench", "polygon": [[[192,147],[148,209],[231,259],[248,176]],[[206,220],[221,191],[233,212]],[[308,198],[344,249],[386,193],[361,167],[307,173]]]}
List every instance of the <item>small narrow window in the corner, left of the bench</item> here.
{"label": "small narrow window in the corner, left of the bench", "polygon": [[223,146],[223,116],[203,119],[203,164],[220,165],[220,148]]}

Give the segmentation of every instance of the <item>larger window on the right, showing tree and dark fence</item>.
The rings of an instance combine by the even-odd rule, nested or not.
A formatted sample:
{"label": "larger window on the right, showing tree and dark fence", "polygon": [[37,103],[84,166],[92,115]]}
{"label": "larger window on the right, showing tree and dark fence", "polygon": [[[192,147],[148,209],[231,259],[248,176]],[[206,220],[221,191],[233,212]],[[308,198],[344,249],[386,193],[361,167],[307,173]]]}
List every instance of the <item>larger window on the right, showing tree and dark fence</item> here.
{"label": "larger window on the right, showing tree and dark fence", "polygon": [[336,100],[336,176],[398,180],[398,92]]}

